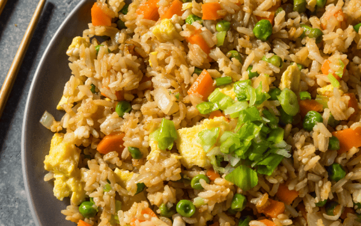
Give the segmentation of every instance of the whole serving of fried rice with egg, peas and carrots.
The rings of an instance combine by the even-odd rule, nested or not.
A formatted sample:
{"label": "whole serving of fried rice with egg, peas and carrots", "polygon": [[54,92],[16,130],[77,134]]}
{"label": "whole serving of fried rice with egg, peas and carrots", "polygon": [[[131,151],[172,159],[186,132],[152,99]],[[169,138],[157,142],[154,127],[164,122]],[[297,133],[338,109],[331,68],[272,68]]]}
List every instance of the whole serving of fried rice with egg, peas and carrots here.
{"label": "whole serving of fried rice with egg, peas and carrots", "polygon": [[[66,52],[72,74],[57,107],[65,114],[57,121],[46,112],[42,119],[56,133],[44,162],[49,171],[45,181],[54,180],[58,199],[71,197],[62,210],[65,219],[99,226],[361,225],[361,29],[353,27],[361,22],[361,1],[328,0],[323,7],[319,2],[304,1],[303,12],[297,12],[296,0],[134,0],[129,5],[98,0],[93,8],[109,23],[97,24],[93,9],[89,12],[89,29]],[[182,10],[172,14],[175,4]],[[212,11],[203,10],[207,4],[219,7],[213,20],[208,19]],[[149,14],[151,9],[155,12]],[[187,23],[190,15],[199,20]],[[220,21],[230,28],[219,31]],[[259,21],[272,25],[266,41],[255,36]],[[321,31],[321,40],[307,34],[311,28]],[[201,42],[192,41],[194,37]],[[232,50],[239,58],[230,58]],[[280,65],[269,60],[274,56]],[[200,87],[205,74],[212,84]],[[217,84],[226,77],[230,83]],[[246,83],[240,81],[257,91],[256,102],[241,97],[236,86]],[[275,88],[294,93],[300,109],[292,113],[279,93],[272,99],[268,93]],[[217,91],[231,103],[222,107],[207,98]],[[230,111],[242,101],[248,108]],[[122,116],[119,102],[131,106]],[[201,107],[206,104],[213,109]],[[259,119],[245,122],[241,110],[250,108]],[[310,110],[318,111],[321,120],[306,130]],[[282,122],[284,112],[292,115],[291,121]],[[172,125],[164,130],[176,134],[164,135],[169,144],[162,148],[164,122]],[[269,131],[282,131],[277,144],[283,144],[283,154],[272,154],[279,164],[270,172],[261,170],[261,160],[250,162],[249,152],[219,151],[225,142],[221,135],[237,133],[246,124],[259,130],[246,131],[252,142],[245,151],[261,137],[262,127],[268,132],[263,131],[259,145],[276,144],[266,142]],[[213,142],[204,131],[220,135],[211,137]],[[101,149],[114,135],[120,141]],[[338,138],[338,149],[330,148],[332,137]],[[141,158],[134,158],[128,147]],[[272,147],[265,147],[260,158],[271,155]],[[338,180],[329,175],[333,164],[344,169]],[[256,176],[243,175],[242,184],[232,175],[238,169]],[[192,184],[198,175],[209,178],[199,180],[201,189]],[[234,197],[245,197],[241,209],[234,207]],[[175,208],[181,200],[196,206],[193,215]],[[95,214],[84,216],[79,208],[84,201],[93,203]],[[336,207],[329,213],[331,203]],[[164,206],[172,214],[164,214]]]}

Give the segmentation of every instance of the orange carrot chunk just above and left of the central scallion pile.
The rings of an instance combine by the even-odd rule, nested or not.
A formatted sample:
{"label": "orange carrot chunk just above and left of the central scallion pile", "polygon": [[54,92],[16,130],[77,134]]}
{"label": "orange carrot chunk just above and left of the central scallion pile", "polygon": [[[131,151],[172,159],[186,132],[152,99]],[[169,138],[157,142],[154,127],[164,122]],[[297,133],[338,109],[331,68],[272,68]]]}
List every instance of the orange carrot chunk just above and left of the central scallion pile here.
{"label": "orange carrot chunk just above and left of the central scallion pile", "polygon": [[204,69],[187,93],[199,93],[203,96],[203,100],[207,100],[207,97],[213,92],[213,90],[213,79],[208,71]]}

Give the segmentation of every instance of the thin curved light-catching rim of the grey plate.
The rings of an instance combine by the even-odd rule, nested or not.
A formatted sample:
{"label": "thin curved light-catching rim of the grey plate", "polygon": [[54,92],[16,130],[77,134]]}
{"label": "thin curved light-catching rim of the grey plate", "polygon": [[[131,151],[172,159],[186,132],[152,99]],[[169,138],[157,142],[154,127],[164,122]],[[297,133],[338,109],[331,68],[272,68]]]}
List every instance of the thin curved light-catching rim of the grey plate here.
{"label": "thin curved light-catching rim of the grey plate", "polygon": [[27,122],[26,119],[29,118],[29,116],[31,115],[31,111],[29,110],[29,104],[30,104],[30,100],[34,96],[34,91],[35,91],[34,87],[36,86],[36,83],[39,82],[40,71],[45,66],[46,59],[51,55],[50,49],[54,45],[56,45],[55,39],[64,30],[66,25],[69,23],[69,21],[72,19],[72,17],[79,11],[79,9],[82,8],[88,2],[94,2],[94,0],[81,0],[75,6],[75,8],[69,13],[69,15],[64,19],[62,24],[59,26],[57,31],[54,33],[52,39],[50,40],[48,46],[46,47],[46,49],[45,49],[45,51],[44,51],[44,53],[43,53],[43,55],[42,55],[42,57],[41,57],[41,59],[39,61],[39,64],[38,64],[37,69],[35,71],[34,77],[32,79],[32,83],[30,85],[29,94],[28,94],[27,101],[26,101],[26,104],[25,104],[25,111],[24,111],[23,123],[22,123],[22,134],[21,134],[22,173],[23,173],[23,181],[24,181],[24,186],[25,186],[25,193],[26,193],[26,196],[27,196],[30,211],[31,211],[32,217],[34,219],[34,223],[36,225],[38,225],[38,226],[43,226],[43,224],[41,224],[39,214],[38,214],[37,210],[35,209],[33,197],[32,197],[32,195],[30,193],[29,175],[28,175],[28,171],[27,171],[28,164],[25,161],[25,153],[26,153],[25,139],[26,139],[26,134],[28,134],[28,126],[27,126],[27,123],[26,123]]}

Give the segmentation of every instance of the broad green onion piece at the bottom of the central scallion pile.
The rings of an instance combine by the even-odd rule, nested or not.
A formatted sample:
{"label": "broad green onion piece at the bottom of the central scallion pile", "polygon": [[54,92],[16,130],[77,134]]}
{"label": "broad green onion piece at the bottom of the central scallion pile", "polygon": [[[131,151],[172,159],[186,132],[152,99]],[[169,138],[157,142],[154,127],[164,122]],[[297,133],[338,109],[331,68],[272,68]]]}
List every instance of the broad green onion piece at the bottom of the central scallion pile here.
{"label": "broad green onion piece at the bottom of the central scallion pile", "polygon": [[231,173],[227,174],[225,179],[235,184],[243,191],[253,188],[258,183],[256,171],[243,165],[238,166]]}

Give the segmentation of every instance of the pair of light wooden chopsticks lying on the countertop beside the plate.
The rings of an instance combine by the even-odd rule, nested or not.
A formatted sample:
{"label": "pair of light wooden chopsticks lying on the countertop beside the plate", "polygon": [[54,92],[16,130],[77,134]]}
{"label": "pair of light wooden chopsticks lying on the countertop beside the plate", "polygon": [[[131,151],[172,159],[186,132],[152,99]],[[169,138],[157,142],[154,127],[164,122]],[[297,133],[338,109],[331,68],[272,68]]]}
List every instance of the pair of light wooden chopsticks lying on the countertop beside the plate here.
{"label": "pair of light wooden chopsticks lying on the countertop beside the plate", "polygon": [[[7,0],[0,0],[0,13],[3,11]],[[23,40],[20,43],[19,49],[14,57],[13,63],[10,66],[8,75],[5,78],[4,84],[0,90],[0,118],[3,115],[5,105],[8,101],[10,92],[13,88],[16,76],[19,72],[19,68],[23,62],[24,55],[29,47],[30,40],[33,36],[34,30],[38,24],[40,15],[43,11],[45,0],[40,0],[39,4],[34,12],[34,15],[29,23],[29,26],[25,32]]]}

